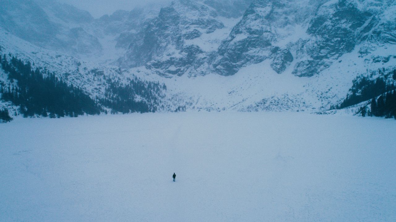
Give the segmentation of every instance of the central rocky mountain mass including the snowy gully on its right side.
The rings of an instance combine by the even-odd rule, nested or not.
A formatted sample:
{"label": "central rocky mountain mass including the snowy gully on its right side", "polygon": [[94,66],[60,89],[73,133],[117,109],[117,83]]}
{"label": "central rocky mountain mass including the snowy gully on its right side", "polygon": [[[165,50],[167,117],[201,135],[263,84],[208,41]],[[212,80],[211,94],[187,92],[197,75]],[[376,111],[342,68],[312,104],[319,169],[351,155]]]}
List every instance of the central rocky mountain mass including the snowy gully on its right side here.
{"label": "central rocky mountain mass including the snowy gully on its right side", "polygon": [[[162,76],[207,74],[208,60],[218,44],[212,36],[220,41],[216,39],[221,38],[219,34],[230,28],[225,23],[239,15],[236,10],[225,13],[221,5],[226,2],[228,8],[234,9],[247,5],[244,1],[177,0],[162,8],[157,17],[144,23],[133,35],[127,53],[118,60],[119,65],[146,66]],[[206,45],[208,40],[214,43],[211,47]]]}

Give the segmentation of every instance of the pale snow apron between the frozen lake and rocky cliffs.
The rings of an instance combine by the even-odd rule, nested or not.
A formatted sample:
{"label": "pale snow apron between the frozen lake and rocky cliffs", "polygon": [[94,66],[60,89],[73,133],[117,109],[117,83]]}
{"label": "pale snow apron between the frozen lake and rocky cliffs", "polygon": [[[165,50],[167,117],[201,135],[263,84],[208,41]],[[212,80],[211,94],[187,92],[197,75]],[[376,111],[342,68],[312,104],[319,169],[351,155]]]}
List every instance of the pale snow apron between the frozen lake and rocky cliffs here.
{"label": "pale snow apron between the frozen lake and rocky cliffs", "polygon": [[[390,53],[392,49],[382,48],[377,55],[388,58]],[[186,109],[319,112],[341,103],[358,75],[367,73],[367,70],[396,66],[394,57],[386,63],[373,63],[377,56],[362,58],[359,55],[358,50],[345,54],[331,69],[312,77],[293,75],[296,61],[280,75],[272,70],[269,60],[242,68],[231,76],[212,73],[164,79],[144,68],[130,69],[129,72],[148,80],[164,81],[168,88],[167,98],[174,106],[179,104]]]}

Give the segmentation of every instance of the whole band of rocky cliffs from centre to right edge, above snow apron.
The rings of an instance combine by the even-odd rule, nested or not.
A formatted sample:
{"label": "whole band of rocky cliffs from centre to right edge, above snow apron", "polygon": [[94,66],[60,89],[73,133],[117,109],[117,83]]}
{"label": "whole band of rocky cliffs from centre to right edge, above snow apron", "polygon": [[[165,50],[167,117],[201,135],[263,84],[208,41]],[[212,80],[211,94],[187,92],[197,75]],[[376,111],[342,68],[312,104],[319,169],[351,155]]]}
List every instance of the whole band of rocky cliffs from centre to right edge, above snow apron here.
{"label": "whole band of rocky cliffs from centre to right edge, above snow apron", "polygon": [[395,41],[394,2],[255,0],[217,50],[206,51],[198,38],[223,29],[222,16],[238,15],[224,14],[215,2],[181,0],[161,9],[130,39],[118,64],[145,66],[162,76],[227,76],[270,60],[276,73],[293,64],[293,75],[310,77],[357,47],[367,55],[372,45]]}

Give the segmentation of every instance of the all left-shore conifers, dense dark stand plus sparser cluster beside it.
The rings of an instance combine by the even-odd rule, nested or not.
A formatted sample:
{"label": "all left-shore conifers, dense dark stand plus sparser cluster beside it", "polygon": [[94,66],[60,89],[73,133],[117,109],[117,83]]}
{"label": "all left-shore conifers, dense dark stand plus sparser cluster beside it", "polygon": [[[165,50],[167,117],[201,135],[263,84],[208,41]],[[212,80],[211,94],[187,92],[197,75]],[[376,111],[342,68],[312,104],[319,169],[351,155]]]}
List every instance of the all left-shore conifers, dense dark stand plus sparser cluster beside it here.
{"label": "all left-shore conifers, dense dark stand plus sparser cluster beside it", "polygon": [[[84,90],[68,85],[55,73],[33,69],[30,62],[14,56],[0,55],[1,68],[8,74],[10,85],[0,85],[1,99],[19,106],[23,117],[77,117],[107,113],[133,113],[157,111],[158,95],[166,90],[159,83],[130,79],[125,85],[110,77],[103,77],[106,93],[103,97],[92,99]],[[102,73],[103,75],[103,73]],[[103,75],[104,76],[104,75]],[[136,98],[140,98],[137,100]],[[12,120],[8,110],[0,110],[3,122]]]}

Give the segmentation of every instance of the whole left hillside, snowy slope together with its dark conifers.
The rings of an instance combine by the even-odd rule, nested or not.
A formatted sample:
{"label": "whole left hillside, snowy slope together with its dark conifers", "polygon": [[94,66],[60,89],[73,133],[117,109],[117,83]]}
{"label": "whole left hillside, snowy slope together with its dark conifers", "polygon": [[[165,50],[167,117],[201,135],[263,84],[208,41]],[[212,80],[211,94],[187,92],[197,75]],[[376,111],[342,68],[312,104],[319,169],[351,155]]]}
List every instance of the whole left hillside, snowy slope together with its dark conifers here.
{"label": "whole left hillside, snowy slope together with its dark conifers", "polygon": [[[166,86],[159,82],[145,81],[118,67],[100,66],[42,49],[1,28],[0,31],[0,108],[6,107],[15,116],[63,117],[171,109],[164,101]],[[79,100],[86,101],[82,104],[91,103],[91,107],[69,107]]]}

